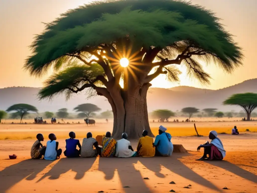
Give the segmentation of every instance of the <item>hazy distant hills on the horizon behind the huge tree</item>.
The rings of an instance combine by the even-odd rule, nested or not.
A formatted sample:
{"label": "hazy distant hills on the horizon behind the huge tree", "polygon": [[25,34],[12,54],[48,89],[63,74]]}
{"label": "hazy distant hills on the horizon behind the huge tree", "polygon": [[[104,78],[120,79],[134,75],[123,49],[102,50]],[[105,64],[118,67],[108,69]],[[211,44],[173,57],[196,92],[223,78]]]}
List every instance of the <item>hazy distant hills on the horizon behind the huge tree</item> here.
{"label": "hazy distant hills on the horizon behind the huge tree", "polygon": [[[102,110],[111,110],[111,106],[103,96],[87,99],[84,93],[74,94],[68,101],[60,95],[52,101],[37,99],[40,88],[32,87],[8,87],[0,89],[0,109],[6,110],[15,103],[28,103],[38,108],[40,112],[56,112],[60,108],[72,109],[81,103],[93,103]],[[199,89],[189,86],[177,86],[170,89],[150,88],[147,94],[148,111],[155,109],[181,110],[184,107],[217,108],[221,111],[242,110],[236,106],[223,106],[222,102],[235,93],[257,93],[257,78],[244,81],[234,86],[219,90]]]}

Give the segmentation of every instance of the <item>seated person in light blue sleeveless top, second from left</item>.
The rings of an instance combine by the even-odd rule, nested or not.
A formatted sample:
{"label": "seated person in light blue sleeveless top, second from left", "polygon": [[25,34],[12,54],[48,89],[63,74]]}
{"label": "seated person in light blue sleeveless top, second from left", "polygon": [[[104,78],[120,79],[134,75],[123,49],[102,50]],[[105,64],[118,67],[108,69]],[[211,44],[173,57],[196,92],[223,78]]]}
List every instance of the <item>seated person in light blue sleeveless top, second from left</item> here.
{"label": "seated person in light blue sleeveless top, second from left", "polygon": [[58,150],[59,142],[56,141],[56,136],[51,133],[48,138],[50,139],[47,142],[47,148],[45,150],[44,159],[45,160],[55,160],[59,159],[62,154],[62,149]]}

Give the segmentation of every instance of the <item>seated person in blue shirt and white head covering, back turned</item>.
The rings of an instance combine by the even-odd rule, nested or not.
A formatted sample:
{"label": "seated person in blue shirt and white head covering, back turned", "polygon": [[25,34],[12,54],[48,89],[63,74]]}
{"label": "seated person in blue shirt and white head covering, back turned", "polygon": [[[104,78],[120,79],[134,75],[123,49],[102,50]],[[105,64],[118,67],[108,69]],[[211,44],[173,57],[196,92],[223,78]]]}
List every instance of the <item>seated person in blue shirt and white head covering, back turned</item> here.
{"label": "seated person in blue shirt and white head covering, back turned", "polygon": [[171,156],[172,154],[171,135],[166,133],[166,130],[162,125],[159,127],[159,135],[156,136],[154,141],[155,156]]}

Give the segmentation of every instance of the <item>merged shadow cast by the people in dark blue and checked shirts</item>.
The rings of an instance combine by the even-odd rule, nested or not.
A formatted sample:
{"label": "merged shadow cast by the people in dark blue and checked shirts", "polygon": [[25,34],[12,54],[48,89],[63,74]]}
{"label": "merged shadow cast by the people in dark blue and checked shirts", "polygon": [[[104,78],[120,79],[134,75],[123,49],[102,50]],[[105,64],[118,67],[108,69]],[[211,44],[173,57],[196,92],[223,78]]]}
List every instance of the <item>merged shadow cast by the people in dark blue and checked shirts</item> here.
{"label": "merged shadow cast by the people in dark blue and checked shirts", "polygon": [[50,180],[60,178],[61,174],[72,170],[77,172],[75,179],[79,180],[84,177],[85,173],[92,167],[96,160],[96,157],[89,158],[62,158],[60,159],[52,169],[44,174],[37,182],[40,182],[44,178],[49,177]]}

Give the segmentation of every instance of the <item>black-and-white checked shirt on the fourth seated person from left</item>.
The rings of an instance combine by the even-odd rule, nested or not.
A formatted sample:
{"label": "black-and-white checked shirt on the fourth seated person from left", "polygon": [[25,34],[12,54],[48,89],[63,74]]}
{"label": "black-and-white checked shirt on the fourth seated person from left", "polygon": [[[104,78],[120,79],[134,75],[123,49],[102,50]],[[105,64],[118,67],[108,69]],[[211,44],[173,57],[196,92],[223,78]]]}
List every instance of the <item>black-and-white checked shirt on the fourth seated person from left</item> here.
{"label": "black-and-white checked shirt on the fourth seated person from left", "polygon": [[93,144],[95,142],[96,142],[96,139],[93,137],[84,138],[82,141],[80,157],[96,157],[97,151],[93,147]]}

